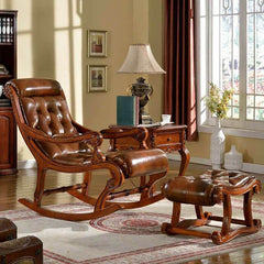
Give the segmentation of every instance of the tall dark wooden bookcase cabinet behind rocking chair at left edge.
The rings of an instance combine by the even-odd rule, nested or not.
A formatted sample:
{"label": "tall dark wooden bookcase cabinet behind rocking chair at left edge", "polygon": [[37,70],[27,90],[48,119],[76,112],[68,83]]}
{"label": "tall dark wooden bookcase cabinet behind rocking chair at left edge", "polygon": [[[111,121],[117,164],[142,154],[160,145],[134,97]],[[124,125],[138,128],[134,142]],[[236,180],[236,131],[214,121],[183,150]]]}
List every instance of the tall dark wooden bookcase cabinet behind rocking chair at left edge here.
{"label": "tall dark wooden bookcase cabinet behind rocking chair at left edge", "polygon": [[[16,78],[16,11],[0,10],[0,86]],[[0,89],[2,90],[2,89]],[[0,96],[0,176],[18,173],[16,125],[10,100]]]}

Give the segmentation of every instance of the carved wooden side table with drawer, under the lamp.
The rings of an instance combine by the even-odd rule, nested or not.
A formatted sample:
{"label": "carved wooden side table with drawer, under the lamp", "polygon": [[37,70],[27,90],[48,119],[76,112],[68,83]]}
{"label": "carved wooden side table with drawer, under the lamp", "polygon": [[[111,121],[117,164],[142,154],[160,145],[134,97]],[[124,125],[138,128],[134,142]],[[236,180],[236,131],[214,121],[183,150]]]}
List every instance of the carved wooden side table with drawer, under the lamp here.
{"label": "carved wooden side table with drawer, under the lamp", "polygon": [[[110,125],[121,130],[131,130],[133,127]],[[148,136],[146,145],[148,148],[161,148],[167,153],[178,151],[182,156],[182,163],[178,175],[185,175],[189,164],[190,154],[185,145],[186,125],[167,124],[164,127],[147,127]],[[138,148],[139,142],[133,138],[112,139],[110,141],[110,151]]]}

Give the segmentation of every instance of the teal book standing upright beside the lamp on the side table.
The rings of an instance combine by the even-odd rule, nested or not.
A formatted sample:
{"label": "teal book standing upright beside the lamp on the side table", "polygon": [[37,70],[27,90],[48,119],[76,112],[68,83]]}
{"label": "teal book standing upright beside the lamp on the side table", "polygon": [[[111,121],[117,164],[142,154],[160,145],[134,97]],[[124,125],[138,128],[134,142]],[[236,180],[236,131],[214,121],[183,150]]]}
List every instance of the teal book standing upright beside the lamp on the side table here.
{"label": "teal book standing upright beside the lamp on the side table", "polygon": [[117,97],[117,124],[138,125],[139,124],[139,97],[118,96]]}

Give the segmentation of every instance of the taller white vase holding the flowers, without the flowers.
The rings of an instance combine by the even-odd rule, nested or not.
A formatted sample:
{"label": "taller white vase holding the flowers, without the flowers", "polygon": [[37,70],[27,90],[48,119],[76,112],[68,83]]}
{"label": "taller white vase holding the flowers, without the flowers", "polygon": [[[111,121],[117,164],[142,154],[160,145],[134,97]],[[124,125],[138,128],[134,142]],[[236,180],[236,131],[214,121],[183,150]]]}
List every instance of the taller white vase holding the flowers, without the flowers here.
{"label": "taller white vase holding the flowers, without the flowers", "polygon": [[220,169],[223,165],[223,154],[226,148],[226,136],[221,129],[220,119],[216,119],[216,128],[211,134],[210,158],[213,169]]}

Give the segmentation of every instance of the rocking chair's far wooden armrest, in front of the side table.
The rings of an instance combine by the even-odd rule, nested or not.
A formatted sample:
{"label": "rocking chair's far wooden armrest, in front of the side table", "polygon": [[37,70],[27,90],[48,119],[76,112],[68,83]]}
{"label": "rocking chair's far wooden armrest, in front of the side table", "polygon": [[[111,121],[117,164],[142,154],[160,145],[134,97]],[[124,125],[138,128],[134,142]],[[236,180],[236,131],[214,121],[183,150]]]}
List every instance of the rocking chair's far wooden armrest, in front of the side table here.
{"label": "rocking chair's far wooden armrest, in front of the side table", "polygon": [[103,139],[114,140],[131,136],[140,142],[141,148],[147,148],[146,139],[148,136],[148,131],[145,128],[133,128],[133,129],[106,129],[100,131]]}

